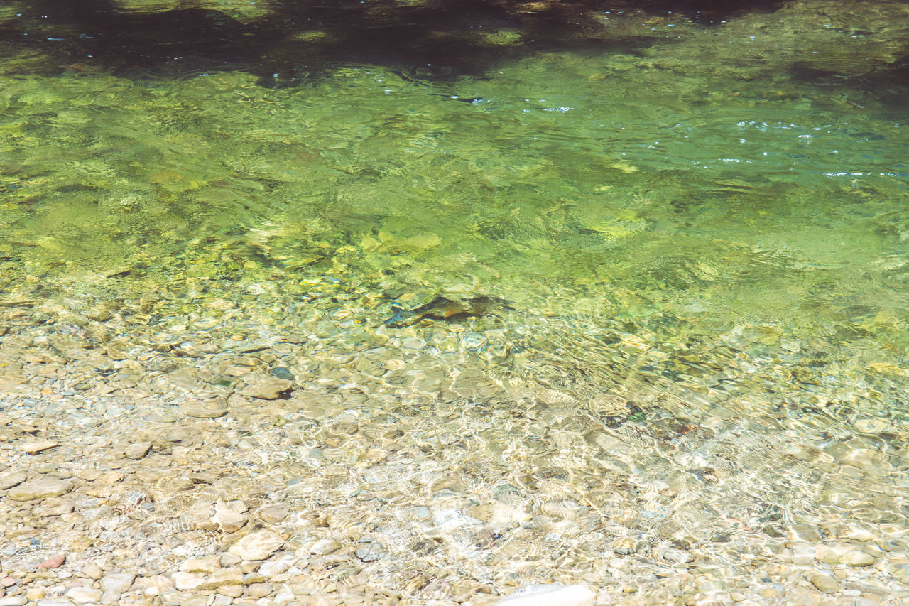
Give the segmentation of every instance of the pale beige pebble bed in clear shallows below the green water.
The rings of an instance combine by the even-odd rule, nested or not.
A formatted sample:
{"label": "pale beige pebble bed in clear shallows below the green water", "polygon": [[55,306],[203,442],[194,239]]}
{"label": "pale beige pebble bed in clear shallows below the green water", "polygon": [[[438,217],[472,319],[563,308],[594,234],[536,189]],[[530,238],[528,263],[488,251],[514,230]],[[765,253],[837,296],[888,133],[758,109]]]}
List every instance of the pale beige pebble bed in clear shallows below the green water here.
{"label": "pale beige pebble bed in clear shallows below the green water", "polygon": [[[187,288],[196,293],[202,285],[192,283],[194,279]],[[155,300],[152,305],[159,303]],[[96,350],[85,348],[78,358],[85,360],[85,369],[53,359],[40,362],[39,374],[35,369],[22,369],[23,385],[34,385],[35,392],[44,390],[46,398],[20,400],[0,390],[0,416],[5,415],[0,419],[0,446],[6,447],[0,449],[0,487],[13,489],[29,477],[56,476],[57,481],[72,484],[65,494],[40,502],[0,502],[0,533],[10,531],[14,536],[0,544],[0,557],[9,575],[9,589],[0,589],[0,596],[15,593],[0,601],[22,606],[25,591],[29,591],[33,603],[52,599],[125,606],[355,605],[371,601],[455,601],[489,606],[496,600],[504,606],[579,606],[594,600],[590,589],[573,584],[584,583],[601,588],[601,603],[705,605],[734,600],[813,604],[845,598],[859,603],[870,599],[859,598],[862,591],[894,588],[894,580],[909,578],[909,571],[897,568],[904,557],[905,522],[887,513],[893,495],[867,496],[884,513],[859,516],[861,522],[848,521],[848,516],[841,515],[842,503],[854,501],[863,511],[871,510],[865,495],[848,485],[842,487],[844,495],[837,497],[834,507],[819,505],[825,517],[813,520],[816,528],[794,529],[774,522],[775,527],[788,531],[784,538],[756,538],[738,523],[721,517],[708,524],[711,533],[716,533],[711,539],[704,534],[700,520],[686,518],[694,522],[691,532],[696,543],[661,543],[660,550],[655,550],[650,542],[652,525],[642,523],[646,520],[640,518],[642,512],[634,499],[625,499],[629,489],[613,483],[590,490],[590,507],[588,492],[584,500],[577,498],[574,483],[583,480],[572,477],[575,463],[585,465],[587,458],[602,463],[599,454],[610,453],[607,458],[617,460],[606,466],[606,474],[599,475],[614,479],[626,475],[613,473],[615,470],[634,468],[648,482],[647,500],[659,511],[680,504],[673,500],[683,490],[692,496],[689,490],[698,494],[704,490],[705,496],[715,497],[719,490],[714,486],[716,479],[740,481],[743,469],[721,466],[710,474],[710,482],[700,475],[678,474],[684,479],[677,479],[669,474],[652,483],[652,470],[645,469],[645,460],[635,460],[642,454],[640,440],[666,446],[663,452],[670,463],[690,462],[693,470],[715,465],[718,440],[726,440],[723,451],[728,447],[732,458],[746,470],[759,464],[739,457],[736,440],[721,433],[724,423],[678,429],[669,422],[672,411],[663,407],[657,417],[650,417],[652,410],[646,410],[636,425],[605,432],[573,420],[573,413],[553,411],[540,402],[534,405],[530,393],[518,399],[533,414],[504,414],[511,407],[490,402],[510,401],[511,384],[490,379],[489,366],[483,362],[481,367],[477,361],[481,354],[498,355],[495,343],[509,330],[504,325],[503,334],[493,338],[485,328],[474,332],[472,321],[469,326],[465,322],[458,339],[447,332],[449,325],[435,322],[440,334],[454,343],[446,342],[443,348],[435,339],[426,339],[423,328],[389,330],[375,325],[375,318],[369,318],[374,313],[370,304],[365,309],[352,307],[366,319],[355,318],[358,330],[368,328],[363,332],[366,338],[355,340],[344,324],[326,323],[324,328],[333,340],[319,341],[308,334],[324,313],[313,309],[304,313],[309,318],[305,324],[300,320],[303,338],[295,341],[298,345],[262,353],[261,348],[253,351],[254,346],[270,347],[285,330],[298,329],[283,325],[296,320],[275,319],[270,310],[259,308],[245,318],[239,305],[224,302],[224,309],[231,312],[225,320],[254,324],[255,330],[261,330],[255,343],[240,343],[246,338],[241,328],[231,332],[224,327],[212,330],[212,342],[205,343],[209,336],[194,332],[198,328],[193,318],[175,320],[163,314],[145,326],[143,322],[159,311],[149,309],[144,319],[135,317],[140,319],[136,327],[148,328],[152,334],[166,332],[175,322],[189,328],[159,338],[150,347],[147,341],[151,337],[136,335],[135,343],[125,349],[130,353],[121,358],[122,363],[114,364],[104,347],[95,346]],[[0,308],[5,313],[6,308]],[[205,308],[198,311],[200,317],[207,313]],[[235,311],[237,315],[233,315]],[[494,325],[499,325],[497,319]],[[187,334],[180,334],[183,332]],[[231,335],[238,338],[231,339]],[[474,345],[474,337],[477,344],[489,347],[484,352],[461,348]],[[527,337],[533,341],[533,335]],[[234,342],[226,343],[229,340]],[[181,350],[175,351],[172,344],[177,343],[182,344]],[[221,347],[225,343],[229,351]],[[0,343],[0,349],[5,347],[5,342]],[[244,351],[251,353],[243,362],[249,366],[236,373],[241,379],[233,379],[230,369],[240,363],[237,352]],[[205,359],[186,357],[200,352]],[[445,359],[447,355],[450,359]],[[24,358],[2,350],[0,356]],[[26,361],[28,364],[32,363]],[[192,367],[185,372],[185,380],[181,379],[190,396],[185,391],[177,395],[167,380],[166,373],[180,366]],[[528,370],[533,369],[533,364],[528,365]],[[104,397],[98,397],[96,382],[89,380],[98,370],[109,385],[117,384]],[[67,389],[76,380],[85,381],[90,389]],[[577,380],[578,385],[584,382]],[[122,387],[129,383],[137,387]],[[282,392],[285,387],[297,388],[294,399],[270,401],[287,395]],[[248,391],[241,396],[233,389]],[[439,389],[445,396],[426,398],[425,391]],[[230,399],[213,397],[225,393],[232,394]],[[474,402],[464,406],[468,398]],[[180,402],[183,414],[165,411],[176,410]],[[201,412],[193,406],[201,406]],[[222,415],[231,418],[210,420]],[[272,420],[278,416],[285,421],[280,430]],[[826,417],[820,417],[825,423]],[[660,430],[660,419],[669,433],[649,433],[650,429]],[[743,427],[736,431],[747,432],[752,420],[743,418]],[[18,429],[28,424],[36,430]],[[36,451],[42,453],[36,456],[20,449],[25,443],[20,436],[44,436],[41,432],[48,428],[53,428],[51,435],[64,446]],[[813,439],[799,433],[804,428],[796,422],[786,428],[792,431],[786,438],[789,442]],[[474,429],[482,429],[488,441],[468,439],[478,435]],[[494,448],[499,429],[518,438],[514,454],[508,453],[507,460]],[[626,434],[626,429],[635,431]],[[896,433],[900,428],[894,425],[890,430]],[[748,434],[734,433],[739,435]],[[539,448],[535,454],[524,451],[521,436],[528,439],[529,447]],[[579,436],[584,439],[578,440]],[[855,441],[859,446],[864,443],[861,438]],[[550,454],[560,449],[564,456]],[[805,452],[824,459],[823,451]],[[496,465],[506,461],[503,469],[507,470],[524,455],[528,465],[519,467],[527,470],[515,475],[514,485],[505,485],[507,490],[499,490],[496,496],[494,487],[504,480],[496,478],[499,474],[484,461],[496,460]],[[690,455],[692,460],[682,461],[682,455]],[[866,459],[872,457],[869,451]],[[883,451],[874,457],[878,462],[887,459],[893,463],[895,459]],[[839,473],[822,471],[834,477]],[[874,474],[863,476],[854,466],[848,471],[851,478],[876,481]],[[444,480],[445,476],[454,476],[454,480]],[[193,492],[178,492],[181,489]],[[401,499],[404,493],[410,499]],[[598,509],[613,498],[621,507]],[[382,502],[389,505],[377,505]],[[715,504],[715,512],[723,514],[730,512],[729,507],[741,505],[722,500]],[[598,515],[594,515],[596,510]],[[280,532],[252,528],[252,524],[264,524],[275,525],[277,530],[282,522],[290,523]],[[634,528],[634,540],[614,540],[619,528]],[[240,536],[243,533],[247,534]],[[720,536],[725,538],[718,539]],[[750,536],[754,543],[747,542]],[[774,550],[785,548],[794,565],[747,559],[754,555],[754,548],[764,552],[767,540]],[[875,544],[888,553],[882,556]],[[703,549],[715,549],[723,563],[705,564]],[[306,555],[307,550],[315,555]],[[865,558],[884,557],[884,561],[878,568],[839,565],[831,570],[832,564],[839,563],[839,554],[852,550],[867,551]],[[39,555],[58,551],[70,554],[68,565],[33,570],[41,560]],[[542,562],[556,552],[558,569],[547,568]],[[76,554],[80,554],[78,559]],[[381,565],[372,565],[374,561]],[[855,556],[847,556],[845,561],[855,565]],[[174,571],[177,564],[179,571]],[[130,570],[139,571],[138,581],[135,575],[122,585],[114,581],[114,575]],[[25,572],[20,575],[19,571]],[[455,578],[450,585],[445,582]],[[553,580],[561,583],[530,585]],[[529,586],[514,591],[522,583]],[[103,592],[96,589],[98,584]],[[762,589],[767,600],[757,595]],[[503,597],[509,591],[514,593]]]}

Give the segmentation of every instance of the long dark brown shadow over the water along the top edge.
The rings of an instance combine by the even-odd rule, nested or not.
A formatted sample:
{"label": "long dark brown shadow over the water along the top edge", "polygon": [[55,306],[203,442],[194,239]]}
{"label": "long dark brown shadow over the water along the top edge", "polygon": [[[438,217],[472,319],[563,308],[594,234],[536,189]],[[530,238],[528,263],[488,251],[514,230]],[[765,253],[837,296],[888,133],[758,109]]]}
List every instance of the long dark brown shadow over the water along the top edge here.
{"label": "long dark brown shadow over the water along the top edge", "polygon": [[[0,45],[50,56],[55,69],[76,65],[118,76],[241,69],[268,86],[294,86],[339,64],[375,64],[446,79],[481,75],[507,58],[547,49],[638,52],[666,39],[646,26],[656,15],[709,26],[782,4],[341,0],[273,3],[241,20],[210,8],[137,12],[112,0],[38,0],[0,22]],[[607,8],[608,28],[599,20]]]}

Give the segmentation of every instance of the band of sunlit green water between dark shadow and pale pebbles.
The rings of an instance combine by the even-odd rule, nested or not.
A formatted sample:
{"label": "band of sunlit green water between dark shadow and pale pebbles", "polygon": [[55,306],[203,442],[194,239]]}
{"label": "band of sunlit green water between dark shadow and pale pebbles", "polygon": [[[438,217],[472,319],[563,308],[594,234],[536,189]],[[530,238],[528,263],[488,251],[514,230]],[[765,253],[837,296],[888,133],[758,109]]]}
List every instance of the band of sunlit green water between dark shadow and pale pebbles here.
{"label": "band of sunlit green water between dark shadow and pale pebbles", "polygon": [[[710,26],[612,15],[653,36],[634,54],[524,56],[499,28],[509,55],[482,75],[339,63],[279,88],[243,69],[116,76],[44,56],[53,42],[9,44],[6,274],[154,281],[176,254],[199,276],[315,271],[558,314],[771,322],[904,355],[904,91],[862,87],[901,68],[904,40],[862,29],[886,4],[817,6]],[[610,14],[587,15],[608,41]]]}

